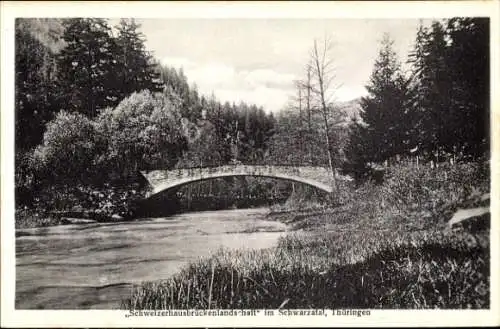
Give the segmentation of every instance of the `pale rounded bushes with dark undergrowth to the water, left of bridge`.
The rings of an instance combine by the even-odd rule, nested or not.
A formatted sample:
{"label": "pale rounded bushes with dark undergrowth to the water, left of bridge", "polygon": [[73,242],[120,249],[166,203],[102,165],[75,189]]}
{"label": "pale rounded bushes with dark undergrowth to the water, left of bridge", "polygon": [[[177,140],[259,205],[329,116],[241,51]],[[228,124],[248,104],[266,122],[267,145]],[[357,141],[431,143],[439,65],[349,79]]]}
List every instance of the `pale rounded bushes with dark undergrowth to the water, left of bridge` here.
{"label": "pale rounded bushes with dark undergrowth to the water, left of bridge", "polygon": [[19,205],[40,216],[73,209],[131,215],[144,192],[139,170],[172,167],[184,150],[180,121],[174,103],[149,91],[132,94],[95,121],[59,112],[47,125],[43,144],[16,159]]}

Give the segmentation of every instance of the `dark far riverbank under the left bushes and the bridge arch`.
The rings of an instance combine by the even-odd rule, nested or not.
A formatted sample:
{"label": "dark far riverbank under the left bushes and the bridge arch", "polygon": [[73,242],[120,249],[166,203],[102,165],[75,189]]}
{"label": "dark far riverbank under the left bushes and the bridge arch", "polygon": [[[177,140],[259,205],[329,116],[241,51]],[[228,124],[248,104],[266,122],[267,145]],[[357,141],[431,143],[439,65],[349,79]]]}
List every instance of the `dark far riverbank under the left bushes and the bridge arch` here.
{"label": "dark far riverbank under the left bushes and the bridge arch", "polygon": [[[197,211],[258,209],[267,207],[270,202],[255,199],[243,202],[239,198],[235,202],[228,197],[210,197],[193,201],[194,206],[186,209],[183,206],[185,200],[177,199],[176,195],[148,199],[145,190],[144,187],[133,189],[120,186],[48,188],[40,193],[43,198],[34,198],[31,203],[16,207],[15,226],[16,229],[24,229],[90,222],[114,223]],[[206,202],[204,207],[203,202]]]}

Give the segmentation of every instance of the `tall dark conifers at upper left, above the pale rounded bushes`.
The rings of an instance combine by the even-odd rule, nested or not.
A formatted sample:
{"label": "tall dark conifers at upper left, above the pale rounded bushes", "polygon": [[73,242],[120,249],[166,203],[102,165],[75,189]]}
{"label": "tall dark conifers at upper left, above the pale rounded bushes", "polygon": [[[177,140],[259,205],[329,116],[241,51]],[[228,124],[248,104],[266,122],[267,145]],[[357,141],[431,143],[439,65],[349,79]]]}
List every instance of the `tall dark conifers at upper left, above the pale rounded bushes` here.
{"label": "tall dark conifers at upper left, above the pale rounded bushes", "polygon": [[97,18],[41,22],[51,29],[38,34],[36,23],[16,20],[16,147],[40,144],[45,125],[61,110],[93,119],[133,91],[162,90],[157,63],[133,20],[122,19],[115,32]]}

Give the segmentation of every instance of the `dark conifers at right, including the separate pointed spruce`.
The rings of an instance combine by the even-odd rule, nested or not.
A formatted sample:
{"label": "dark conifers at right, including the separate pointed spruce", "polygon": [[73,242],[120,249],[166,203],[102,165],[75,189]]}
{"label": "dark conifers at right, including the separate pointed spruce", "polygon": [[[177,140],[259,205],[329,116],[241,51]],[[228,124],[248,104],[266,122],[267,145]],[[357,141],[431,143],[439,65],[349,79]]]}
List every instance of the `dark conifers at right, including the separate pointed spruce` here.
{"label": "dark conifers at right, including the separate pointed spruce", "polygon": [[453,18],[420,26],[405,74],[384,36],[352,125],[344,169],[366,177],[394,157],[439,163],[489,152],[489,19]]}

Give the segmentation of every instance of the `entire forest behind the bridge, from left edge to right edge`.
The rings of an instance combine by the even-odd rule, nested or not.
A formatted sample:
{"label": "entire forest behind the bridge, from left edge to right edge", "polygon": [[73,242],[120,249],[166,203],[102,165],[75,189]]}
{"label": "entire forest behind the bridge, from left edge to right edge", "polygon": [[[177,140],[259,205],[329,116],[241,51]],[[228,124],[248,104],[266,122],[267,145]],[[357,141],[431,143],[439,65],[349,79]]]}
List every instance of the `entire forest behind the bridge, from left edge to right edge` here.
{"label": "entire forest behind the bridge, from left edge to right edge", "polygon": [[[24,210],[124,216],[144,187],[139,170],[318,165],[359,183],[391,161],[489,156],[486,18],[421,24],[405,59],[410,72],[384,35],[368,96],[345,104],[330,84],[335,49],[315,41],[297,95],[277,114],[200,95],[182,69],[161,65],[145,48],[133,19],[117,26],[97,18],[17,19],[15,33],[16,203]],[[177,195],[224,199],[227,207],[250,196],[282,201],[297,189],[311,192],[226,178]]]}

